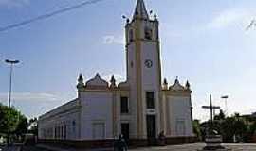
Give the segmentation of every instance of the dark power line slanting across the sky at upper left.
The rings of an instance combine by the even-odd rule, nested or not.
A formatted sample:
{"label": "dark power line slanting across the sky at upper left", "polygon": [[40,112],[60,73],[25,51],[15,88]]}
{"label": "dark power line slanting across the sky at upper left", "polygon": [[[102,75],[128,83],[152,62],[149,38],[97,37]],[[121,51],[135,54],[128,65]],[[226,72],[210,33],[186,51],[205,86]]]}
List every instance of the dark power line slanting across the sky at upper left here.
{"label": "dark power line slanting across the sky at upper left", "polygon": [[16,23],[16,24],[0,27],[0,32],[6,31],[6,30],[9,30],[9,29],[12,29],[12,28],[16,28],[16,27],[19,27],[19,26],[23,26],[23,25],[28,25],[28,24],[31,24],[31,23],[39,21],[39,20],[45,20],[47,18],[50,18],[50,17],[53,17],[55,15],[64,13],[66,11],[70,11],[70,10],[76,9],[76,8],[82,8],[82,7],[86,6],[86,5],[95,4],[95,3],[98,3],[100,1],[103,1],[103,0],[88,0],[88,1],[82,2],[80,4],[71,6],[71,7],[61,8],[59,10],[55,10],[53,12],[46,13],[44,15],[41,15],[41,16],[38,16],[38,17],[35,17],[35,18],[32,18],[32,19],[26,20],[26,21],[23,21],[23,22],[20,22],[20,23]]}

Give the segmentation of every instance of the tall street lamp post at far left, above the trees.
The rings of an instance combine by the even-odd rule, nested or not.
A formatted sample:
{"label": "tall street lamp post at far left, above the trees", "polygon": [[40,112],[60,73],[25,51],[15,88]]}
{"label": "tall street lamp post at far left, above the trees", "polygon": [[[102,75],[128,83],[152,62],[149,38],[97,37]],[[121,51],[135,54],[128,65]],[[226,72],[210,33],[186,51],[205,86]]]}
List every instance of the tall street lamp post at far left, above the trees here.
{"label": "tall street lamp post at far left, above the trees", "polygon": [[[10,109],[13,66],[14,66],[15,64],[18,64],[20,61],[19,61],[19,60],[9,60],[9,59],[6,59],[5,62],[9,64],[9,95],[8,95],[8,107],[9,107],[9,109]],[[8,125],[9,125],[9,119],[8,119]],[[8,145],[9,145],[9,126],[8,126]]]}

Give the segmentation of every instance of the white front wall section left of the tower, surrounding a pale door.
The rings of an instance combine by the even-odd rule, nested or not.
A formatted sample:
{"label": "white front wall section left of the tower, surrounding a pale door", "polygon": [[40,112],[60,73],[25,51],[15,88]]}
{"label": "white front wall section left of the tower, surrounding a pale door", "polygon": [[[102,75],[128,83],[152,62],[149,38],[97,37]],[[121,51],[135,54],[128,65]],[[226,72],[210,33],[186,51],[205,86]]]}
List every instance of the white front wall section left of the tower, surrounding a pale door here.
{"label": "white front wall section left of the tower, surrounding a pale door", "polygon": [[113,138],[112,92],[82,92],[81,99],[82,140],[94,139],[93,131],[96,124],[104,124],[105,139]]}

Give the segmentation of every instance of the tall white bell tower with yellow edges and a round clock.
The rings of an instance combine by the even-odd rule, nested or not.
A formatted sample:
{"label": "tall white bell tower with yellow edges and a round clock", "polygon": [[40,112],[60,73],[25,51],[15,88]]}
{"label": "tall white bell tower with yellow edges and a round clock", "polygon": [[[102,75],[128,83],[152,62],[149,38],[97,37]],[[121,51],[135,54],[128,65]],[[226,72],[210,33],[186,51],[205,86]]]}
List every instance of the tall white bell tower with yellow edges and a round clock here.
{"label": "tall white bell tower with yellow edges and a round clock", "polygon": [[137,0],[132,20],[125,25],[127,78],[134,104],[137,139],[150,139],[160,131],[161,63],[156,14],[149,16]]}

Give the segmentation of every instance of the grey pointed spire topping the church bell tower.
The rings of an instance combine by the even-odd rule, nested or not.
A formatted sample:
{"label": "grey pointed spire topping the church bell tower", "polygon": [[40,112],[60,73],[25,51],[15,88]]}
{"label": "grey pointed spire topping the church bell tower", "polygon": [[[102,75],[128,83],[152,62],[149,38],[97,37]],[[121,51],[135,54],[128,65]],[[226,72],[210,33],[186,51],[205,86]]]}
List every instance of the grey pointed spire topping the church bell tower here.
{"label": "grey pointed spire topping the church bell tower", "polygon": [[137,0],[134,18],[137,17],[142,19],[149,19],[147,8],[145,7],[145,3],[143,0]]}

